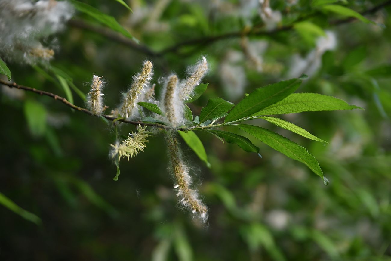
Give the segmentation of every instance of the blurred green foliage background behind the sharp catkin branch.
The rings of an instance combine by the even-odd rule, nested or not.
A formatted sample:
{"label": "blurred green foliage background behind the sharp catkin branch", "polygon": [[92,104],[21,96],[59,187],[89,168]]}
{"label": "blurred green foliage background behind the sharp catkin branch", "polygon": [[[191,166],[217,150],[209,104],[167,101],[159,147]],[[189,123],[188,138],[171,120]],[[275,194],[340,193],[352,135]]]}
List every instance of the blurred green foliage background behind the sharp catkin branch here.
{"label": "blurred green foliage background behind the sharp catkin branch", "polygon": [[[357,13],[344,13],[342,6],[323,5],[363,12],[382,1],[271,1],[282,14],[276,28],[294,24],[274,32],[264,28],[257,5],[246,1],[220,1],[228,11],[219,1],[125,1],[133,13],[121,1],[83,2],[113,16],[129,31],[127,39],[133,36],[159,55],[72,22],[57,36],[59,50],[50,67],[7,63],[16,83],[73,95],[83,107],[92,75],[104,76],[106,104],[115,108],[145,59],[154,63],[158,79],[171,71],[182,76],[207,55],[208,88],[189,105],[199,115],[210,97],[236,103],[244,93],[286,79],[297,66],[292,55],[305,57],[316,39],[332,30],[337,48],[323,53],[319,70],[300,92],[339,97],[365,111],[283,115],[326,145],[255,120],[303,144],[319,160],[328,186],[306,166],[250,136],[262,159],[197,132],[211,167],[186,152],[199,167],[200,194],[209,209],[203,227],[176,203],[162,137],[151,138],[143,153],[121,162],[115,182],[108,152],[116,133],[107,122],[48,97],[2,87],[0,260],[391,260],[391,5],[365,13],[377,23],[371,24]],[[364,22],[338,22],[346,15]],[[100,32],[111,30],[83,13],[74,19]],[[212,38],[248,28],[266,32],[249,36],[249,42],[267,43],[264,70],[237,59],[235,68],[245,68],[246,85],[232,98],[220,69],[228,50],[243,53],[240,34]],[[175,47],[199,38],[204,40]],[[131,130],[127,124],[120,133]]]}

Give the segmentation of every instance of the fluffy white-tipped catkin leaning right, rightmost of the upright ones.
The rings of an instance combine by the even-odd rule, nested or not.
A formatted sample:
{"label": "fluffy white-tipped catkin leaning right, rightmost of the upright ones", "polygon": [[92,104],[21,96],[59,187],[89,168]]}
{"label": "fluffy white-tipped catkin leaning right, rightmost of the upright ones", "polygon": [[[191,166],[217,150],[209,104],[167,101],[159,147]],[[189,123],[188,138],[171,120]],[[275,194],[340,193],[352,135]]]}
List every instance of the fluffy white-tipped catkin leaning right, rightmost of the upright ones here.
{"label": "fluffy white-tipped catkin leaning right, rightmost of the upright ones", "polygon": [[190,94],[194,91],[195,86],[201,83],[202,78],[208,72],[208,62],[203,56],[202,59],[197,63],[197,65],[189,67],[187,69],[190,76],[181,82],[181,90],[179,92],[179,97],[185,101],[189,98]]}

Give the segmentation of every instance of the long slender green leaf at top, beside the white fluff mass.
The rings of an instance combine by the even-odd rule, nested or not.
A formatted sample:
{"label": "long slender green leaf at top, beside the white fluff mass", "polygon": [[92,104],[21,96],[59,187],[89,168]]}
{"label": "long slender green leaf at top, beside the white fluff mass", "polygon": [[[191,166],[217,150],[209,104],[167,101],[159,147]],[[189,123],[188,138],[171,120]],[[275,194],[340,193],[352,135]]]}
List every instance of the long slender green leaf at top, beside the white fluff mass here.
{"label": "long slender green leaf at top, beside the white fluff mass", "polygon": [[85,4],[85,3],[82,3],[82,2],[79,2],[76,0],[70,0],[70,2],[72,2],[75,9],[77,9],[78,11],[91,16],[92,18],[94,18],[98,22],[110,27],[114,31],[117,31],[128,38],[131,38],[134,41],[138,41],[136,38],[134,38],[130,34],[130,32],[126,31],[126,29],[124,29],[124,27],[122,27],[117,22],[117,20],[115,20],[115,18],[113,16],[109,16],[107,14],[104,14],[104,13],[100,12],[98,9],[96,9],[95,7],[92,7],[91,5],[88,5],[88,4]]}

